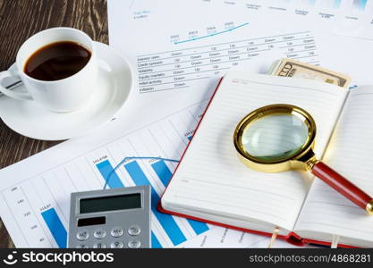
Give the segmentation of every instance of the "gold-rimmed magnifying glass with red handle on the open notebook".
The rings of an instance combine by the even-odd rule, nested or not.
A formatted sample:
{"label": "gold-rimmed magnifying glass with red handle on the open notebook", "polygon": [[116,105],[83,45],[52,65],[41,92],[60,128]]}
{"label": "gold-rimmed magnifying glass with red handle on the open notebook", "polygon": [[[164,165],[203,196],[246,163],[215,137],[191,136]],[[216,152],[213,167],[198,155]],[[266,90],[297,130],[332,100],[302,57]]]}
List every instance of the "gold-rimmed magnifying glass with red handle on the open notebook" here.
{"label": "gold-rimmed magnifying glass with red handle on the open notebook", "polygon": [[242,163],[259,172],[310,171],[373,215],[373,198],[316,159],[316,123],[294,105],[267,105],[240,121],[233,142]]}

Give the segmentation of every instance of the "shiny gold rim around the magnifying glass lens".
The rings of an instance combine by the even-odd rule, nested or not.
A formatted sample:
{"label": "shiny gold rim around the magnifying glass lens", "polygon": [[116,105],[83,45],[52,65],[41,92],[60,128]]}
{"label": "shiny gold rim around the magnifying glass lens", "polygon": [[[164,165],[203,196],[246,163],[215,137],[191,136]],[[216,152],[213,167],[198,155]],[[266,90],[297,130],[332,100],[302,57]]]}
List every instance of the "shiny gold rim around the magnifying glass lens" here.
{"label": "shiny gold rim around the magnifying glass lens", "polygon": [[[259,159],[253,155],[250,155],[246,152],[242,145],[242,133],[243,130],[252,122],[257,121],[264,116],[273,115],[273,114],[293,114],[302,119],[305,122],[309,129],[309,136],[307,141],[304,145],[293,155],[286,156],[284,158],[276,159],[276,160],[263,160]],[[280,164],[285,163],[291,160],[296,160],[300,158],[302,155],[305,155],[309,150],[312,150],[314,140],[316,138],[316,123],[313,120],[312,116],[305,110],[301,109],[295,105],[285,105],[285,104],[276,104],[276,105],[267,105],[260,107],[259,109],[252,111],[251,113],[247,114],[242,120],[237,124],[236,129],[234,130],[233,134],[233,143],[234,147],[237,150],[240,158],[243,160],[244,163],[250,165],[251,168],[255,169],[255,165],[259,165],[258,169],[263,170],[262,165],[268,164]],[[288,166],[290,169],[290,166]]]}

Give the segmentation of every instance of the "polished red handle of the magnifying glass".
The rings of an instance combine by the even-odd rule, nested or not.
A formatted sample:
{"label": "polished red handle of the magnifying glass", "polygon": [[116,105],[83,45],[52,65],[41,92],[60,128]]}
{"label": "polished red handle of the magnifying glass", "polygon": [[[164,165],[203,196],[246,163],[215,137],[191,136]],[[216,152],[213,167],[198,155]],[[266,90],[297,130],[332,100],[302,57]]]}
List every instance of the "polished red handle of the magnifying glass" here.
{"label": "polished red handle of the magnifying glass", "polygon": [[330,187],[335,188],[344,197],[347,197],[356,205],[367,210],[369,214],[373,213],[372,197],[369,197],[362,189],[358,188],[350,180],[345,179],[338,172],[335,172],[325,163],[316,163],[311,172],[318,176],[319,179],[324,180]]}

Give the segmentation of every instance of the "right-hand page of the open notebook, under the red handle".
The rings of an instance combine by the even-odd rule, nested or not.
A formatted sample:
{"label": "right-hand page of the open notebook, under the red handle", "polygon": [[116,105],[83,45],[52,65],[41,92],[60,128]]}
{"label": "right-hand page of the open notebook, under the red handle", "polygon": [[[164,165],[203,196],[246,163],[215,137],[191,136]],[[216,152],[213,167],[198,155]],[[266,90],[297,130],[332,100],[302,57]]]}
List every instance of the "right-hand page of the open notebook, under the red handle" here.
{"label": "right-hand page of the open notebook, under the red handle", "polygon": [[[372,161],[373,87],[360,87],[353,89],[346,101],[325,162],[373,196]],[[312,185],[295,230],[370,240],[373,246],[373,217],[321,180]],[[350,244],[351,239],[341,238],[340,242]]]}

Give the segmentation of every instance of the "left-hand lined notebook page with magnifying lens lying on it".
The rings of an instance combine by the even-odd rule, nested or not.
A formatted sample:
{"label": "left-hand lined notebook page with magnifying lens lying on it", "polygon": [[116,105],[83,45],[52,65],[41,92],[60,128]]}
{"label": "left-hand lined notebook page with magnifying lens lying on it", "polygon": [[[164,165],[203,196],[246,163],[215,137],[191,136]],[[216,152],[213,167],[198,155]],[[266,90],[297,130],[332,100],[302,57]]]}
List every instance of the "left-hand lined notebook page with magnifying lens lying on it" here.
{"label": "left-hand lined notebook page with magnifying lens lying on it", "polygon": [[322,155],[346,95],[344,88],[318,81],[229,72],[165,191],[163,207],[194,216],[198,211],[220,214],[226,220],[220,222],[227,224],[232,224],[229,217],[255,219],[292,230],[309,178],[301,172],[250,170],[236,155],[233,131],[243,116],[261,106],[298,105],[318,123],[316,152]]}

